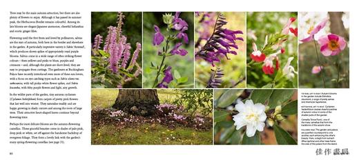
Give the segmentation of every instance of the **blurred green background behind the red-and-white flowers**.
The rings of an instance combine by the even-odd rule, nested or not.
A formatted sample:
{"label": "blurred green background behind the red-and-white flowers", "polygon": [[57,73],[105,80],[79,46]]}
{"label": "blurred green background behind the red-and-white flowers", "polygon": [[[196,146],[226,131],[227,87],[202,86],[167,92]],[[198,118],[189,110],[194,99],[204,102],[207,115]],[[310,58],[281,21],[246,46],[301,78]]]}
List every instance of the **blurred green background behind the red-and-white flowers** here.
{"label": "blurred green background behind the red-and-white flowers", "polygon": [[[250,57],[250,54],[253,52],[252,43],[255,42],[258,46],[258,50],[260,50],[264,45],[266,35],[281,32],[283,26],[291,17],[297,18],[297,12],[247,12],[247,63],[252,60]],[[298,23],[296,20],[292,23],[291,27],[295,28],[297,25]],[[298,71],[298,64],[296,63],[298,61],[298,38],[289,32],[289,38],[282,44],[282,47],[285,48],[285,53],[279,55],[280,69],[284,67],[289,57],[294,57],[293,61],[291,61],[291,66],[295,68],[295,71]],[[266,56],[269,55],[267,53],[265,54]],[[273,63],[275,63],[275,61],[273,61]],[[262,64],[263,63],[258,63],[253,68],[247,68],[247,88],[262,88],[267,83],[273,81],[275,73],[272,75],[264,74],[262,71]],[[283,78],[282,81],[279,81],[279,83],[276,84],[276,87],[297,88],[297,79],[298,77],[295,76],[293,83],[292,81]]]}

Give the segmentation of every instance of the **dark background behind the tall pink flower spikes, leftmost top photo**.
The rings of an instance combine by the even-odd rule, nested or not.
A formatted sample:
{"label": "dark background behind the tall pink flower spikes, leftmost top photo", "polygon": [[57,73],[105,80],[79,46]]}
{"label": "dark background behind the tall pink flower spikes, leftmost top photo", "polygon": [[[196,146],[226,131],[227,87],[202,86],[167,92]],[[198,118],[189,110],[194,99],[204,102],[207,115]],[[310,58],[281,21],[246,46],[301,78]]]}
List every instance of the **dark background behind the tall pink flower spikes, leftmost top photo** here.
{"label": "dark background behind the tall pink flower spikes, leftmost top photo", "polygon": [[[97,34],[103,38],[101,48],[104,47],[104,41],[109,26],[117,26],[118,12],[91,12],[91,44]],[[131,43],[131,55],[136,49],[136,42],[142,43],[142,12],[122,12],[125,16],[122,26],[122,34],[127,37],[127,43]],[[139,52],[137,63],[142,66],[142,52]],[[124,88],[142,88],[142,75],[137,79],[127,82]]]}

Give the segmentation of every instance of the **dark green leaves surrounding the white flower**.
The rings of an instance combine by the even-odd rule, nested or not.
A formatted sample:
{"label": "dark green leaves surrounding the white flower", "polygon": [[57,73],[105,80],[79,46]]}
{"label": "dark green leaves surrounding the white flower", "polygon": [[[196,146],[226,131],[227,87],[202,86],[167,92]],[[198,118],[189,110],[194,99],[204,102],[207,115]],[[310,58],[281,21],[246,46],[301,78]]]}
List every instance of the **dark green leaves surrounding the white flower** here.
{"label": "dark green leaves surrounding the white flower", "polygon": [[[216,93],[218,92],[218,93]],[[296,121],[298,112],[296,90],[215,90],[214,140],[215,144],[267,144],[266,134],[274,134],[277,144],[296,144]],[[266,126],[253,137],[246,135],[246,127],[235,128],[233,115],[239,113],[234,108],[239,101],[251,100],[266,106]],[[237,108],[237,107],[236,107]],[[293,122],[292,122],[293,121]],[[294,123],[290,125],[291,123]],[[269,144],[269,143],[268,143]]]}

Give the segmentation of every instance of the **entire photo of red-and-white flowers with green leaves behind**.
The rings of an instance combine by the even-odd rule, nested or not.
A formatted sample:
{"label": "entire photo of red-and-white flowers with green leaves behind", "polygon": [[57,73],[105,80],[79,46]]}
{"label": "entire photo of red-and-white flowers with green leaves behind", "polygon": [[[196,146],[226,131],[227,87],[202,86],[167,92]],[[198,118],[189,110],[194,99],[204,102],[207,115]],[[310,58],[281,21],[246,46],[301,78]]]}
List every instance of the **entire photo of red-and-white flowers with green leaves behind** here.
{"label": "entire photo of red-and-white flowers with green leaves behind", "polygon": [[[247,88],[298,88],[296,17],[297,12],[247,13]],[[257,49],[266,59],[253,59]]]}

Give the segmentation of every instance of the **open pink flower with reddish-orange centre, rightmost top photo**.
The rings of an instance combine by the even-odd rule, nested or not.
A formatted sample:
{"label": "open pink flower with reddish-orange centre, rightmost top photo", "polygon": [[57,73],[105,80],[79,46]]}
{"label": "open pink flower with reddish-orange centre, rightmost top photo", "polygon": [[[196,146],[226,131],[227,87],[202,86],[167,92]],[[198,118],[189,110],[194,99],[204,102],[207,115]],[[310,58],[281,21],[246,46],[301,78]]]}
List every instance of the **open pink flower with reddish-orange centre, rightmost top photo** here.
{"label": "open pink flower with reddish-orange centre, rightmost top photo", "polygon": [[320,44],[320,52],[324,56],[335,56],[347,46],[345,39],[337,34],[323,35],[319,37],[318,43]]}

